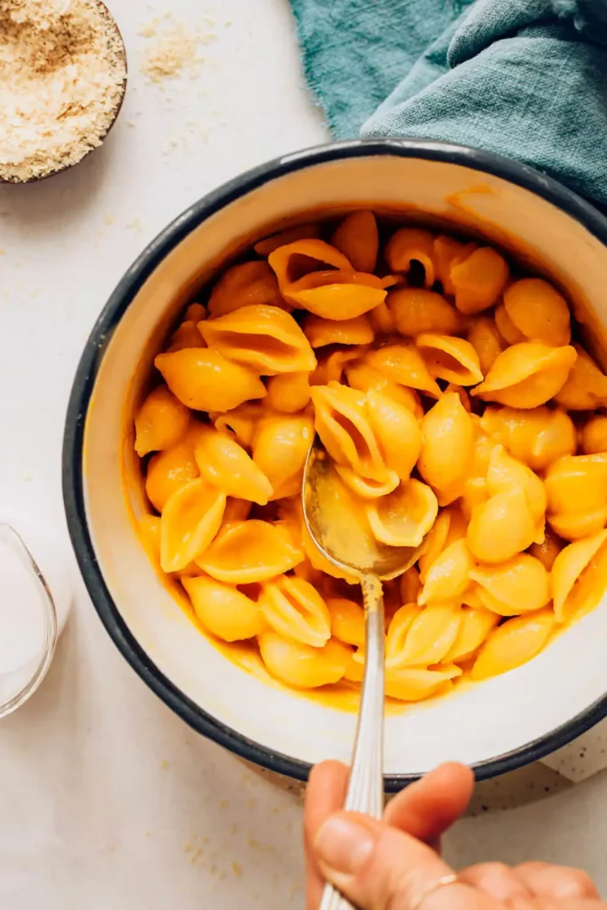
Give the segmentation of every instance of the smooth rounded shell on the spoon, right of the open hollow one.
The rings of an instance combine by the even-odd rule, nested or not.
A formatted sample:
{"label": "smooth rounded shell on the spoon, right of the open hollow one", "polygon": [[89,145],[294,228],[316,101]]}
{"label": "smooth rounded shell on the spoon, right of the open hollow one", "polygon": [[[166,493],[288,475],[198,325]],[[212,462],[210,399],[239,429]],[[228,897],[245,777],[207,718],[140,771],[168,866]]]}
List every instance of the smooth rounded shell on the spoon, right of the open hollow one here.
{"label": "smooth rounded shell on the spoon, right of the open hollow one", "polygon": [[377,389],[367,392],[367,411],[372,430],[389,470],[395,470],[400,480],[409,480],[420,457],[421,433],[418,420],[411,411],[383,395]]}

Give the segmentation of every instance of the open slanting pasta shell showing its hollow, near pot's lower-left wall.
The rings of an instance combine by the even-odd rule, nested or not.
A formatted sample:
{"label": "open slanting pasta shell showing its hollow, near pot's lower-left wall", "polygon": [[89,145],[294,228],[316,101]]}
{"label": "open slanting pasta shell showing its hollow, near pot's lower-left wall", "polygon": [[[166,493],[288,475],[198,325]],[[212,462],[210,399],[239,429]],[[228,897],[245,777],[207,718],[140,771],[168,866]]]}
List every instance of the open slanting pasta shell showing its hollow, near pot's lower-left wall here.
{"label": "open slanting pasta shell showing its hollow, near pot's lower-left wall", "polygon": [[185,569],[217,534],[226,509],[226,494],[206,480],[190,480],[176,490],[162,511],[160,566],[162,571]]}

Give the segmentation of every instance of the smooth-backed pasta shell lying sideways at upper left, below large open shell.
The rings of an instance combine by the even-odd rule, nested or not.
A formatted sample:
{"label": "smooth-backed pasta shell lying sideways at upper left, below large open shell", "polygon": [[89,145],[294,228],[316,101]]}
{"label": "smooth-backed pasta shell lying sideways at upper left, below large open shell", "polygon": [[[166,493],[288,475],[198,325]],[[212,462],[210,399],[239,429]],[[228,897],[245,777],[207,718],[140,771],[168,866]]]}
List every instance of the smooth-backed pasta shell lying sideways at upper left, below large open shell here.
{"label": "smooth-backed pasta shell lying sideways at upper left, below large open shell", "polygon": [[218,350],[177,350],[158,354],[154,363],[187,408],[231,410],[243,401],[266,396],[263,382],[252,370],[226,359]]}

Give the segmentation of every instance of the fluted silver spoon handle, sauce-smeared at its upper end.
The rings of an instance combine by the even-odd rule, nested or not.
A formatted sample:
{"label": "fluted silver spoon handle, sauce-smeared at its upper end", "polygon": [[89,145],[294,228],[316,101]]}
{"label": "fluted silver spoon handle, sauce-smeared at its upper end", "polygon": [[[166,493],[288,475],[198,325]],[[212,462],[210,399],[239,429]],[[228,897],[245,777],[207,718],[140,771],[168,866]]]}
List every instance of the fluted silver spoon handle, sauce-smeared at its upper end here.
{"label": "fluted silver spoon handle, sauce-smeared at its upper end", "polygon": [[[381,581],[365,575],[366,660],[359,723],[344,808],[381,818],[383,812],[384,605]],[[333,885],[325,885],[319,910],[348,910],[352,905]]]}

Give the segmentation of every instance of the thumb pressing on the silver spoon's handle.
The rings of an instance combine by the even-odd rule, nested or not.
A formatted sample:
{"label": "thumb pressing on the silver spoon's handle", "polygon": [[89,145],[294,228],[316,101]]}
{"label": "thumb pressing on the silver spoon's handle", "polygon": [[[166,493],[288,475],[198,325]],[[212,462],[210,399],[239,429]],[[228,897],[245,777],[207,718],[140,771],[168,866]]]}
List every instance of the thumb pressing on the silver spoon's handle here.
{"label": "thumb pressing on the silver spoon's handle", "polygon": [[499,910],[470,885],[440,885],[453,870],[420,841],[367,815],[337,813],[313,849],[324,878],[360,910]]}

